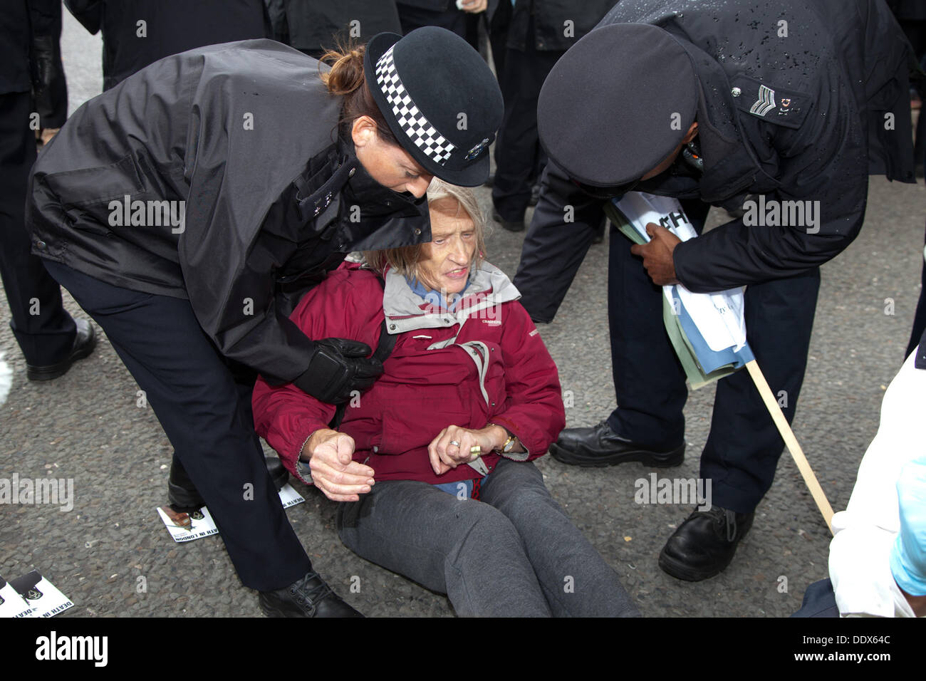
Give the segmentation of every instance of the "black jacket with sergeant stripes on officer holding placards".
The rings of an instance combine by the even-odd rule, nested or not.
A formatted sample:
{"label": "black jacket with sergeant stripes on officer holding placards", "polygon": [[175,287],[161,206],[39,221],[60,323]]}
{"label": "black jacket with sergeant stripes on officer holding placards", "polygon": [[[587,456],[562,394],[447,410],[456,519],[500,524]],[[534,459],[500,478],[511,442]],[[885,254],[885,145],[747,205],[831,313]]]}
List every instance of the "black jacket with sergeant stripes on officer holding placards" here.
{"label": "black jacket with sergeant stripes on officer holding placards", "polygon": [[[883,0],[622,0],[601,25],[621,22],[672,33],[691,55],[700,88],[703,174],[693,177],[677,164],[640,191],[728,206],[746,194],[817,202],[808,204],[819,217],[814,226],[747,226],[740,219],[676,246],[676,275],[690,290],[718,291],[819,266],[857,235],[869,172],[913,182],[907,75],[914,64]],[[763,106],[770,101],[763,87],[775,92],[777,108]],[[577,124],[594,134],[607,121]],[[574,222],[563,221],[567,206]],[[515,277],[535,321],[556,314],[602,221],[601,207],[548,166]]]}

